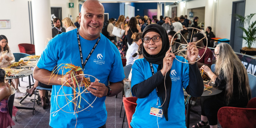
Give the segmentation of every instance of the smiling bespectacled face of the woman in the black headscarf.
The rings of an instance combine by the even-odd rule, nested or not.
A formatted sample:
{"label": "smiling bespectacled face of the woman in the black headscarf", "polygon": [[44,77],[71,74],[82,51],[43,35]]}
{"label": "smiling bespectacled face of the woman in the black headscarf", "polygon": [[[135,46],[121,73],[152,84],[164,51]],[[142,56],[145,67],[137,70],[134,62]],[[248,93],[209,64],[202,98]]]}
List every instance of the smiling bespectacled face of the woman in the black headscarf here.
{"label": "smiling bespectacled face of the woman in the black headscarf", "polygon": [[[156,32],[148,32],[145,37],[152,38],[154,36],[160,36],[160,34]],[[154,42],[152,39],[150,39],[149,43],[143,43],[143,46],[150,55],[156,55],[158,54],[162,49],[162,38],[158,42]]]}

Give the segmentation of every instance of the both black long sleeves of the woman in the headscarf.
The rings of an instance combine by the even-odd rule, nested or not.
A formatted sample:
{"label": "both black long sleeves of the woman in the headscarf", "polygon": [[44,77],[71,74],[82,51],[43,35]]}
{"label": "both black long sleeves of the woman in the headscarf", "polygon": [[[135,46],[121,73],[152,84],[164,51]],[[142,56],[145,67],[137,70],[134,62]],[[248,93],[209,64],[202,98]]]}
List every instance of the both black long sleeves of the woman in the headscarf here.
{"label": "both black long sleeves of the woman in the headscarf", "polygon": [[[193,97],[200,97],[204,92],[203,78],[200,74],[197,64],[189,64],[189,83],[186,92]],[[132,86],[132,94],[137,98],[146,98],[159,84],[164,81],[161,71],[155,75]]]}

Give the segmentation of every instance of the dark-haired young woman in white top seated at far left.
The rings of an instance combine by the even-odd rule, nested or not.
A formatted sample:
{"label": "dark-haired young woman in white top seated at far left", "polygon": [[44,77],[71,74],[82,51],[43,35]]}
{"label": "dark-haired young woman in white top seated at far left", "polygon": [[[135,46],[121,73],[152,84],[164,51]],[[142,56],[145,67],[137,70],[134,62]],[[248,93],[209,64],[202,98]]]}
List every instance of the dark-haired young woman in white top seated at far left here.
{"label": "dark-haired young woman in white top seated at far left", "polygon": [[[0,47],[0,68],[6,68],[8,67],[8,64],[15,61],[15,58],[8,46],[8,40],[4,35],[0,35]],[[4,57],[1,57],[2,53],[6,50],[8,51],[6,55]],[[12,83],[14,85],[13,87],[15,88],[15,98],[23,97],[26,95],[26,93],[20,92],[20,90],[18,89],[19,78],[12,79]]]}

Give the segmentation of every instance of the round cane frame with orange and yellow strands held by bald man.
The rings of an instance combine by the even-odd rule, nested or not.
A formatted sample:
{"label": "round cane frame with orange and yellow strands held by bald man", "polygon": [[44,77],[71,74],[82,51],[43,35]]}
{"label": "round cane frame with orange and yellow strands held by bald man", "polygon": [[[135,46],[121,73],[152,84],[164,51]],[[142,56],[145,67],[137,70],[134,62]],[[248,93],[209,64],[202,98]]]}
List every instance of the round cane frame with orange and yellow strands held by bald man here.
{"label": "round cane frame with orange and yellow strands held by bald man", "polygon": [[[68,72],[64,73],[65,70],[68,70]],[[52,78],[56,79],[57,78],[56,74],[59,74],[59,71],[62,71],[62,73],[60,73],[60,74],[62,74],[61,75],[62,77],[58,79],[58,80],[61,81],[62,86],[60,87],[60,90],[57,93],[56,102],[57,102],[57,106],[60,109],[57,110],[57,111],[52,112],[51,114],[53,114],[53,116],[56,116],[58,111],[62,110],[66,113],[71,113],[71,114],[76,115],[76,113],[84,111],[85,109],[87,109],[89,107],[93,108],[92,103],[96,100],[97,97],[95,97],[95,99],[92,101],[92,103],[89,103],[88,101],[85,100],[85,98],[83,98],[81,96],[83,93],[90,93],[88,91],[88,87],[91,84],[91,82],[90,82],[89,79],[85,78],[84,76],[91,76],[91,75],[84,74],[81,67],[75,66],[75,65],[69,63],[69,64],[59,64],[59,65],[57,65],[54,68],[54,70],[52,71],[52,75],[50,76],[50,79],[52,79]],[[82,79],[79,76],[83,76]],[[94,77],[94,76],[92,76],[92,77]],[[95,78],[95,81],[99,81],[99,80],[97,78]],[[71,84],[71,83],[73,83],[73,84]],[[65,84],[70,87],[70,90],[72,90],[72,94],[67,94],[64,91],[63,86]],[[63,101],[63,96],[65,97],[64,101]],[[67,103],[66,105],[59,106],[59,103],[58,103],[59,101],[58,100],[60,99],[60,97],[62,97],[60,102],[66,102]],[[84,100],[88,104],[88,106],[86,108],[82,107],[84,105],[81,105],[81,103],[82,103],[81,100]],[[84,101],[83,101],[83,103],[85,103]],[[70,109],[70,104],[69,103],[73,104],[74,110]],[[68,107],[69,110],[68,111],[67,111],[67,109],[64,110],[64,107]]]}

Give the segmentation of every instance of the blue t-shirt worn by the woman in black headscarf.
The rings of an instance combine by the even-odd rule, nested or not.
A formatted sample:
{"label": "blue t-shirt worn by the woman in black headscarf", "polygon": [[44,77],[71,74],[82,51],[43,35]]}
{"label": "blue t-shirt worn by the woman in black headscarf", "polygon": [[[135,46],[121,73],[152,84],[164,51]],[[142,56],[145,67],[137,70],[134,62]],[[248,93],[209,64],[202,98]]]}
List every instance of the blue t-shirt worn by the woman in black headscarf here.
{"label": "blue t-shirt worn by the woman in black headscarf", "polygon": [[[185,61],[183,57],[176,56],[178,60]],[[135,113],[132,116],[131,126],[133,128],[157,128],[157,120],[159,128],[185,128],[185,104],[183,88],[188,86],[189,82],[189,66],[186,63],[181,63],[174,59],[172,63],[170,77],[172,79],[172,90],[170,103],[168,108],[168,121],[165,117],[156,117],[149,115],[150,108],[157,108],[161,106],[160,100],[157,103],[157,93],[154,89],[146,98],[137,100],[137,107]],[[153,64],[154,72],[157,72],[157,64]],[[146,59],[135,60],[132,65],[132,81],[131,85],[138,84],[152,76],[150,64]],[[168,86],[168,85],[167,85]],[[160,107],[159,107],[160,108]]]}

